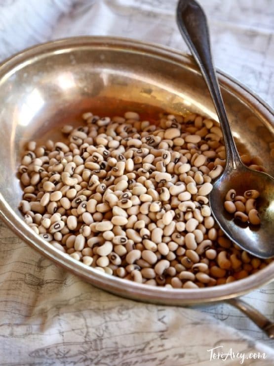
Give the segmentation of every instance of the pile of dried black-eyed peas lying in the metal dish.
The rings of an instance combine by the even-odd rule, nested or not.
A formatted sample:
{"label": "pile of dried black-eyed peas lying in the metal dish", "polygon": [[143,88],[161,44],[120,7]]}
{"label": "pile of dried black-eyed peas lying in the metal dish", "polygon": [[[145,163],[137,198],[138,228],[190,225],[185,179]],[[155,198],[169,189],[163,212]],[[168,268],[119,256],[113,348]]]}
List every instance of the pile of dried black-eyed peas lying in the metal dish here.
{"label": "pile of dried black-eyed peas lying in the metal dish", "polygon": [[[151,124],[135,112],[83,120],[62,128],[65,142],[30,141],[19,168],[24,221],[50,245],[98,271],[173,288],[267,266],[211,215],[207,196],[226,162],[216,122],[162,114]],[[263,170],[258,157],[242,160]]]}

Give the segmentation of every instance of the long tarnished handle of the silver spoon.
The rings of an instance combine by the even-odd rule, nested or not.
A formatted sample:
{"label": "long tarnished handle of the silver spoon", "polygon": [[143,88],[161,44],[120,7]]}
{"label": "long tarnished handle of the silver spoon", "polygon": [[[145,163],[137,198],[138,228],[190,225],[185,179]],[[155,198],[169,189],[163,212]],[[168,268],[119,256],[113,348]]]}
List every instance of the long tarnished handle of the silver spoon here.
{"label": "long tarnished handle of the silver spoon", "polygon": [[212,96],[222,127],[227,154],[227,166],[235,168],[241,164],[231,133],[227,113],[215,74],[209,41],[206,16],[195,0],[179,0],[177,25],[198,64]]}

